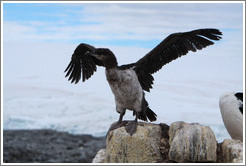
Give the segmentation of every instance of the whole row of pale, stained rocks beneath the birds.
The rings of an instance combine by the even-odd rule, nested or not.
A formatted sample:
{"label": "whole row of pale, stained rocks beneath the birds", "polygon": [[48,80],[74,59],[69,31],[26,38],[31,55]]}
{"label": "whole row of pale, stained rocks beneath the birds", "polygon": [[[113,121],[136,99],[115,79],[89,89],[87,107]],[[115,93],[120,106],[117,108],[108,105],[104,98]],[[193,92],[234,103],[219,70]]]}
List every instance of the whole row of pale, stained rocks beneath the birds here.
{"label": "whole row of pale, stained rocks beneath the birds", "polygon": [[130,136],[124,127],[111,131],[106,149],[93,162],[242,162],[242,142],[225,140],[218,144],[208,126],[175,122],[170,125],[139,123]]}

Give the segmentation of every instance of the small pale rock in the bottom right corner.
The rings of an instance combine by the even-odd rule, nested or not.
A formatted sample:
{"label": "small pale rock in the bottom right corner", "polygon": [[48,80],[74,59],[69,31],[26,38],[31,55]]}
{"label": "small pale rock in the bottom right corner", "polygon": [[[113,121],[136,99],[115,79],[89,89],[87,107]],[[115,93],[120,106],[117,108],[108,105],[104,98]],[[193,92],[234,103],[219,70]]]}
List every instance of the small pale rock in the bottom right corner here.
{"label": "small pale rock in the bottom right corner", "polygon": [[243,143],[240,140],[226,139],[221,144],[223,163],[243,162]]}

